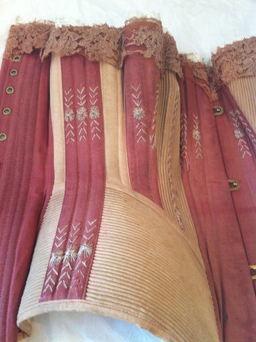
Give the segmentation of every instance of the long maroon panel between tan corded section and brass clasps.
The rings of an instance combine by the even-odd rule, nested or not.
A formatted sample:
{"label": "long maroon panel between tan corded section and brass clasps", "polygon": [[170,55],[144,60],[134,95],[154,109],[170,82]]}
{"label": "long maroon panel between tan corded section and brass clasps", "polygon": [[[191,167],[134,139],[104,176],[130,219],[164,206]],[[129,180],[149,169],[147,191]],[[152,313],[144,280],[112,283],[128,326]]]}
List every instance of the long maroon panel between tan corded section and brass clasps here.
{"label": "long maroon panel between tan corded section and brass clasps", "polygon": [[[213,294],[217,326],[224,341],[254,341],[255,294],[230,194],[230,176],[227,177],[225,170],[213,103],[205,91],[208,85],[194,76],[187,63],[183,73],[184,81],[180,81],[183,185]],[[235,146],[230,142],[228,148]]]}

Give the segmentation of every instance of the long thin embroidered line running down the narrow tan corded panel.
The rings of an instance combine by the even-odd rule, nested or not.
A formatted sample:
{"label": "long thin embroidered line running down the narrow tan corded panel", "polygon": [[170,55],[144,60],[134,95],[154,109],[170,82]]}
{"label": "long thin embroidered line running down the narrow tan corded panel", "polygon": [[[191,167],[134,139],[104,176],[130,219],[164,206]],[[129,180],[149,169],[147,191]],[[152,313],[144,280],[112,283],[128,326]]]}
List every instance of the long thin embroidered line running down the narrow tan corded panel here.
{"label": "long thin embroidered line running down the narrow tan corded panel", "polygon": [[[178,104],[179,104],[179,93],[176,92],[175,95],[175,105],[173,110],[173,118],[172,118],[172,125],[171,125],[171,133],[175,130],[176,120],[177,120],[177,113],[178,113]],[[177,197],[175,193],[175,188],[173,187],[173,172],[172,172],[172,158],[171,158],[171,150],[173,150],[173,134],[170,135],[169,146],[168,146],[168,179],[169,179],[169,187],[170,187],[170,199],[173,203],[173,209],[178,221],[178,224],[181,229],[185,230],[183,219],[181,218],[180,209],[178,208]]]}

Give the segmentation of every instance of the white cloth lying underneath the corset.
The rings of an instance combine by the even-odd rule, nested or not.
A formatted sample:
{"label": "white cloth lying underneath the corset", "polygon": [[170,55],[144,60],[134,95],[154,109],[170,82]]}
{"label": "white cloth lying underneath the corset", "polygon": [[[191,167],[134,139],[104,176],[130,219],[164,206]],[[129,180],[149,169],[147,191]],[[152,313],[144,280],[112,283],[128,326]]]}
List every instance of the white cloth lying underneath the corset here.
{"label": "white cloth lying underneath the corset", "polygon": [[[133,16],[153,16],[175,38],[180,53],[208,61],[217,46],[256,36],[256,0],[0,0],[0,56],[9,26],[47,19],[58,25],[123,26]],[[1,57],[0,57],[1,58]],[[157,342],[129,323],[96,314],[52,313],[34,319],[26,342]]]}

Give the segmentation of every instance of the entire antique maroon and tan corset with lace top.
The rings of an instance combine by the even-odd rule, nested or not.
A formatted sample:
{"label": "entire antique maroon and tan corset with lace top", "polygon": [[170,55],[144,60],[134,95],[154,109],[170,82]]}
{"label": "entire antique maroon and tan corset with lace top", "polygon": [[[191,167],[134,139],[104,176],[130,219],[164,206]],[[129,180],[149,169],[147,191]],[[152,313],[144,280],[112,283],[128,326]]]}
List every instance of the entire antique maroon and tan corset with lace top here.
{"label": "entire antique maroon and tan corset with lace top", "polygon": [[227,68],[250,39],[209,69],[179,56],[155,19],[11,26],[1,341],[16,341],[16,319],[23,338],[53,311],[119,318],[163,341],[254,336],[255,59],[242,77]]}

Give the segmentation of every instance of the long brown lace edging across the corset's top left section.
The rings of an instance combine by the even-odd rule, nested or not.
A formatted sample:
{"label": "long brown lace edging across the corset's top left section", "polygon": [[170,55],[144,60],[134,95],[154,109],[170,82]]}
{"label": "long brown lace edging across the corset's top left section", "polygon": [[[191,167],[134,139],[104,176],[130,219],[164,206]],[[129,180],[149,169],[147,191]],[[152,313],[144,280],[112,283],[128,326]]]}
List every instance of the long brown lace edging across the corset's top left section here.
{"label": "long brown lace edging across the corset's top left section", "polygon": [[4,58],[41,51],[42,60],[50,53],[59,56],[81,54],[90,61],[106,61],[116,68],[123,66],[126,56],[140,53],[155,58],[155,65],[164,76],[167,71],[182,75],[175,40],[163,33],[156,19],[133,18],[123,28],[107,24],[94,26],[62,26],[53,23],[31,23],[11,26]]}

